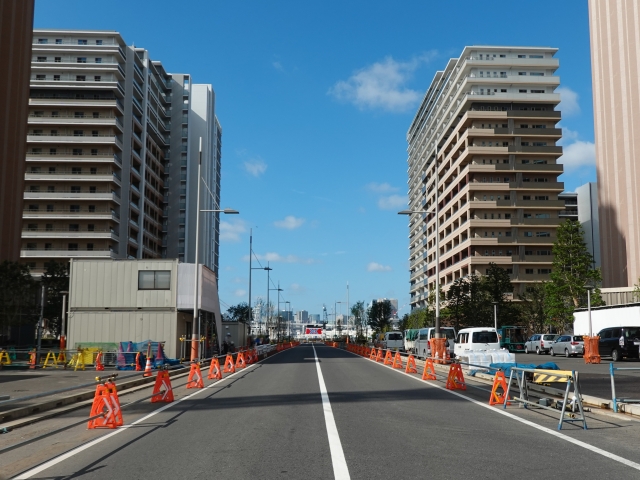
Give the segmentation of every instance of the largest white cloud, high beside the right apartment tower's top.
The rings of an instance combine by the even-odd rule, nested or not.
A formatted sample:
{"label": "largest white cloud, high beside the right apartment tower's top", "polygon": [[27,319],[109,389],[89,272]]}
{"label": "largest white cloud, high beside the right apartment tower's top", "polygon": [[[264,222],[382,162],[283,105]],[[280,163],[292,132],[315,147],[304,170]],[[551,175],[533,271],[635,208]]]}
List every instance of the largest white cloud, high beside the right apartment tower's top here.
{"label": "largest white cloud, high beside the right apartment tower's top", "polygon": [[420,64],[434,55],[428,53],[408,62],[386,57],[381,62],[356,71],[347,80],[337,82],[328,93],[361,109],[381,108],[391,112],[410,110],[420,101],[423,92],[407,88],[405,84]]}

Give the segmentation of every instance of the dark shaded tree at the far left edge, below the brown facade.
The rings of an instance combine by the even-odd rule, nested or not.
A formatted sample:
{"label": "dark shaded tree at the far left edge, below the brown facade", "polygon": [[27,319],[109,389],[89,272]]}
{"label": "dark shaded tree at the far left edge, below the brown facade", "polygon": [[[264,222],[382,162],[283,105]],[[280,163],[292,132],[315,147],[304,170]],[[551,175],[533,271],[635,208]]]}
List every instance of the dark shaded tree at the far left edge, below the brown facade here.
{"label": "dark shaded tree at the far left edge, below the brown facade", "polygon": [[7,260],[0,263],[0,332],[11,326],[35,325],[37,290],[26,265]]}

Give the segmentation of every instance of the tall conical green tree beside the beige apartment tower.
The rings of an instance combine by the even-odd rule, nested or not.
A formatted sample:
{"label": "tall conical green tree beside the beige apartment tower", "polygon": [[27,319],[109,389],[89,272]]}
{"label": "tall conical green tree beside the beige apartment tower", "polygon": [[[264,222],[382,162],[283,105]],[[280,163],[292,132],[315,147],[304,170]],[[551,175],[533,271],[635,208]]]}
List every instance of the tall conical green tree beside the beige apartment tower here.
{"label": "tall conical green tree beside the beige apartment tower", "polygon": [[[582,226],[576,220],[567,220],[557,230],[553,243],[551,281],[545,284],[547,322],[563,332],[573,323],[573,311],[586,306],[585,284],[598,285],[600,270],[593,267],[593,257],[584,242]],[[591,305],[603,305],[600,289],[591,295]]]}

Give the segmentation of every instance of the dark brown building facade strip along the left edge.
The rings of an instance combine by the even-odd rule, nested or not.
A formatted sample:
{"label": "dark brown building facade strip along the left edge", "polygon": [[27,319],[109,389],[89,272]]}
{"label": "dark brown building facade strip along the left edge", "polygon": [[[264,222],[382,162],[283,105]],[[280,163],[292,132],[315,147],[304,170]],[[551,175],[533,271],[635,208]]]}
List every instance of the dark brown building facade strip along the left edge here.
{"label": "dark brown building facade strip along the left edge", "polygon": [[35,0],[0,2],[0,261],[18,261]]}

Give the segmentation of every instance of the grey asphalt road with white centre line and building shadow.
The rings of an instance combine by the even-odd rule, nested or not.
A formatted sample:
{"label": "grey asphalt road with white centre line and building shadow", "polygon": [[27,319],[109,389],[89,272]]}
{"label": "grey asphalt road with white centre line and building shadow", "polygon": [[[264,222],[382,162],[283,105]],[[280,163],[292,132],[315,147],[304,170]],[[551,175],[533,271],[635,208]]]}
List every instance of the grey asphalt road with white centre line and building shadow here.
{"label": "grey asphalt road with white centre line and building shadow", "polygon": [[[343,350],[300,346],[205,382],[195,394],[178,388],[177,401],[165,407],[125,408],[128,428],[78,427],[4,454],[0,472],[37,479],[369,480],[524,477],[533,469],[534,476],[640,478],[640,422],[589,415],[589,430],[565,425],[559,433],[554,412],[511,406],[505,413],[488,406],[486,386],[458,393],[419,378]],[[44,423],[0,435],[0,448],[55,426]]]}

